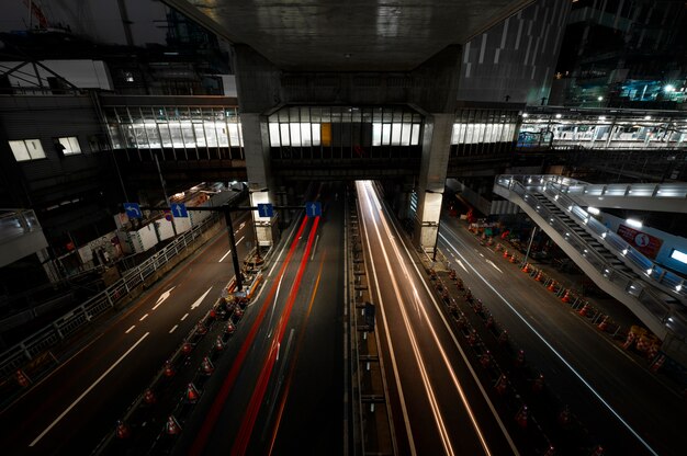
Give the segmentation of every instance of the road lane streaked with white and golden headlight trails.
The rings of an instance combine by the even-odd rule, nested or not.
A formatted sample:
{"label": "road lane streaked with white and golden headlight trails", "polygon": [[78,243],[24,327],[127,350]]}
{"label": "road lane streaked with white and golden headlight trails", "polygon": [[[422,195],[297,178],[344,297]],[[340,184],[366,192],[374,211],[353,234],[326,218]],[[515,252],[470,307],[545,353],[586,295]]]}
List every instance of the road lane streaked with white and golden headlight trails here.
{"label": "road lane streaked with white and golden headlight trails", "polygon": [[402,454],[518,454],[370,182],[360,217]]}

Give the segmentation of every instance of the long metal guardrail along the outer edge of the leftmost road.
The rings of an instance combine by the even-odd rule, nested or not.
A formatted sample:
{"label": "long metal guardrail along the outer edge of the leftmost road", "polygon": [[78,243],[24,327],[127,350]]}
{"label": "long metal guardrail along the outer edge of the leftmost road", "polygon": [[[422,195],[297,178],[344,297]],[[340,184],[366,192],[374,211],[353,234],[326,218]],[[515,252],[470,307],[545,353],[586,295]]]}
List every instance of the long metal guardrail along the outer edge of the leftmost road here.
{"label": "long metal guardrail along the outer edge of the leftmost road", "polygon": [[169,260],[182,252],[219,218],[218,215],[212,215],[203,219],[140,265],[126,271],[122,278],[98,295],[0,354],[0,378],[13,375],[24,364],[57,345],[108,309],[113,308],[128,295],[129,290],[143,284],[147,277],[165,266]]}

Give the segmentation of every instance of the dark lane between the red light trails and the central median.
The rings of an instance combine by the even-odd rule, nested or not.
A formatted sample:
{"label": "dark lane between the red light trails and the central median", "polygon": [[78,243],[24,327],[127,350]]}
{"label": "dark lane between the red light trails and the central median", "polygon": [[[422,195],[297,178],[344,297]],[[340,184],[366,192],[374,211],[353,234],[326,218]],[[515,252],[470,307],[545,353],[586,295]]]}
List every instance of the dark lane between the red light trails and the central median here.
{"label": "dark lane between the red light trails and the central median", "polygon": [[[289,356],[270,385],[269,407],[258,417],[252,454],[346,455],[344,438],[344,195],[341,184],[320,190],[325,212],[316,247],[294,308]],[[261,438],[264,436],[264,438]]]}

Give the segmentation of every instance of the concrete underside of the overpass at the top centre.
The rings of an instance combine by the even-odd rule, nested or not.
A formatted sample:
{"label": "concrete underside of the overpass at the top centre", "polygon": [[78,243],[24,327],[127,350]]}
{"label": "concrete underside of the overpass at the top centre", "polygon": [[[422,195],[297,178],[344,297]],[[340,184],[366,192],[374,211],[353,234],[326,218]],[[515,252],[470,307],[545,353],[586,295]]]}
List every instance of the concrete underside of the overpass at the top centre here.
{"label": "concrete underside of the overpass at the top centre", "polygon": [[410,70],[533,0],[165,0],[289,70]]}

